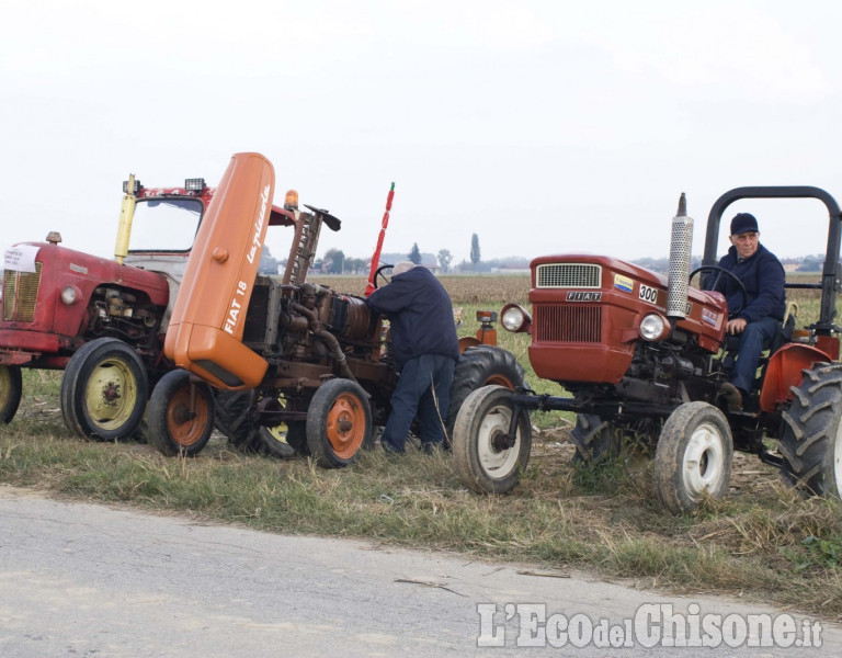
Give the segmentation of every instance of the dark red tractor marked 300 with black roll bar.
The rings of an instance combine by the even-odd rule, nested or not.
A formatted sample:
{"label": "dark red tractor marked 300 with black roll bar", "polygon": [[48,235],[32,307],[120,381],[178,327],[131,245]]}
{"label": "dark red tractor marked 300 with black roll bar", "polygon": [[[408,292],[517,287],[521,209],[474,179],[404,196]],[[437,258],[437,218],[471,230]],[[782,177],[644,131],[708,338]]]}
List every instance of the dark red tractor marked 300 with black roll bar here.
{"label": "dark red tractor marked 300 with black roll bar", "polygon": [[[736,345],[726,338],[729,310],[719,293],[690,281],[727,276],[717,266],[719,223],[742,198],[816,198],[830,216],[820,283],[787,288],[821,292],[819,318],[792,332],[793,317],[764,353],[742,410],[729,411]],[[488,386],[465,400],[454,430],[463,481],[479,492],[505,492],[519,481],[531,450],[528,412],[577,413],[576,460],[596,462],[624,438],[655,447],[659,498],[673,513],[704,495],[728,490],[733,450],[775,465],[789,483],[818,495],[842,494],[842,365],[834,302],[839,286],[840,208],[810,186],[739,188],[710,209],[702,268],[690,272],[692,219],[682,195],[672,224],[669,276],[611,257],[547,256],[532,262],[531,316],[507,305],[501,322],[528,332],[535,374],[570,397]],[[713,286],[710,286],[713,287]],[[774,447],[767,447],[773,440]]]}

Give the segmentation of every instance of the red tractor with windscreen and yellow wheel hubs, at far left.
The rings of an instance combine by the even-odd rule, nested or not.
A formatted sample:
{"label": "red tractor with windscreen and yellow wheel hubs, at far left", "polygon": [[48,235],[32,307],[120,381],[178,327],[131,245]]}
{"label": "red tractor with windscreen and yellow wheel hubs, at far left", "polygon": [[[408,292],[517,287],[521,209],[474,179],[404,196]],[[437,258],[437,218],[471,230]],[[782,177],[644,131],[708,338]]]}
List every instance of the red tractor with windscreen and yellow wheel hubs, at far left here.
{"label": "red tractor with windscreen and yellow wheel hubs, at far left", "polygon": [[[22,396],[21,368],[65,370],[61,411],[82,436],[133,434],[151,385],[172,368],[163,336],[214,189],[124,183],[116,260],[45,242],[5,253],[0,302],[0,420]],[[269,223],[291,220],[272,206]],[[130,249],[129,249],[130,237]]]}

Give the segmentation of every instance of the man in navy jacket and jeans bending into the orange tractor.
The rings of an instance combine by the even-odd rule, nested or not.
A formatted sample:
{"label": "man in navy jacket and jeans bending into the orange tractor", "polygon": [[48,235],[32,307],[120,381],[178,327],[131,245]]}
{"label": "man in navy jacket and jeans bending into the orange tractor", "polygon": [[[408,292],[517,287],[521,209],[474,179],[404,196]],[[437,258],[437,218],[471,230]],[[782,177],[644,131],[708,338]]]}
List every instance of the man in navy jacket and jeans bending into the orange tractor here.
{"label": "man in navy jacket and jeans bending into the orange tractor", "polygon": [[391,354],[400,372],[380,444],[402,453],[418,417],[421,444],[431,453],[444,441],[459,358],[451,298],[430,270],[405,261],[392,269],[391,283],[372,293],[368,307],[389,319]]}

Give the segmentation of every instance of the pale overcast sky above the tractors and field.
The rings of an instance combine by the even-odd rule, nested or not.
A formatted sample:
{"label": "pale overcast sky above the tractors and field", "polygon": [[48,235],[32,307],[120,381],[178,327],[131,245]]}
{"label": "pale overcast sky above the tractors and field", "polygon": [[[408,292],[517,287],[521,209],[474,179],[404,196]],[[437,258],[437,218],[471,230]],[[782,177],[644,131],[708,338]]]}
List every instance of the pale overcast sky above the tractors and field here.
{"label": "pale overcast sky above the tractors and field", "polygon": [[[483,260],[667,256],[681,192],[809,184],[842,202],[837,0],[29,0],[0,21],[0,247],[111,257],[129,172],[259,151],[275,202],[343,222],[319,248]],[[817,202],[743,202],[780,257],[823,252]],[[733,212],[729,209],[729,218]],[[281,230],[282,232],[277,232]],[[289,230],[269,245],[285,257]],[[727,231],[724,231],[727,232]],[[724,248],[722,248],[724,249]]]}

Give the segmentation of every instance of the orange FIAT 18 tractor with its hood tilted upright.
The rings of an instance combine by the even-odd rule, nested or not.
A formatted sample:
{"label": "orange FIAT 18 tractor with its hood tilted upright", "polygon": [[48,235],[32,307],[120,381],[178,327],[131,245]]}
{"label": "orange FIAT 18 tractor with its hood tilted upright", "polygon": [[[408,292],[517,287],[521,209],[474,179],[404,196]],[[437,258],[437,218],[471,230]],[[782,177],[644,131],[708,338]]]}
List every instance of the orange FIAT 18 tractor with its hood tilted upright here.
{"label": "orange FIAT 18 tractor with its hood tilted upright", "polygon": [[[363,297],[307,281],[322,226],[335,231],[340,220],[296,209],[283,277],[258,275],[273,191],[269,160],[235,155],[196,235],[164,343],[183,370],[161,378],[147,417],[164,454],[198,454],[217,427],[237,445],[280,456],[292,446],[338,467],[386,422],[398,372],[383,319]],[[478,386],[524,386],[512,354],[476,344],[493,333],[487,325],[456,366],[445,422]]]}

